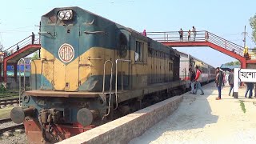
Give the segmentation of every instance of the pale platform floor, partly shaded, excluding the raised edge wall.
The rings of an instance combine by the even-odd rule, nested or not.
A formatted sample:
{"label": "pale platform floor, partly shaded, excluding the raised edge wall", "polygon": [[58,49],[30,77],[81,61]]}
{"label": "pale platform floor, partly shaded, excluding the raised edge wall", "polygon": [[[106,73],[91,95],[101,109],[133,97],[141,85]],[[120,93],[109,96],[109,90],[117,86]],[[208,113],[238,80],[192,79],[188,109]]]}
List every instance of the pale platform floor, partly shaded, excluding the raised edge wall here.
{"label": "pale platform floor, partly shaded, excluding the raised edge wall", "polygon": [[130,144],[143,143],[256,143],[256,98],[244,98],[246,87],[238,90],[238,99],[222,88],[222,100],[214,82],[202,87],[205,95],[183,94],[183,101],[166,119],[158,122]]}

